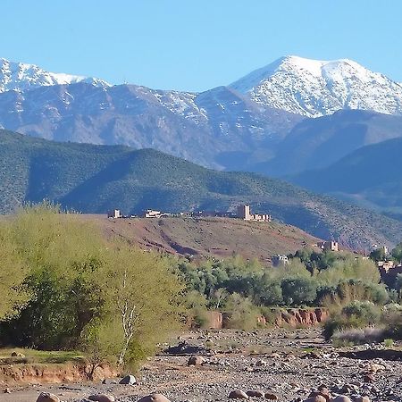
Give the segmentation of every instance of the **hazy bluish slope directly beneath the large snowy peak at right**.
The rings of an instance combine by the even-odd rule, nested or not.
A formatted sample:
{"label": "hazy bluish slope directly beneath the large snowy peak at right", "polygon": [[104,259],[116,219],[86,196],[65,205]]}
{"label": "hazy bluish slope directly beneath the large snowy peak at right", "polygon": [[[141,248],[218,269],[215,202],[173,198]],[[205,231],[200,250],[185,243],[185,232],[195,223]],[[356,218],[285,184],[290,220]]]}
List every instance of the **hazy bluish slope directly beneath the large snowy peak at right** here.
{"label": "hazy bluish slope directly beneath the large snowy peak at right", "polygon": [[285,177],[325,168],[360,147],[399,137],[402,137],[402,116],[339,111],[301,121],[281,141],[271,161],[256,163],[252,169]]}

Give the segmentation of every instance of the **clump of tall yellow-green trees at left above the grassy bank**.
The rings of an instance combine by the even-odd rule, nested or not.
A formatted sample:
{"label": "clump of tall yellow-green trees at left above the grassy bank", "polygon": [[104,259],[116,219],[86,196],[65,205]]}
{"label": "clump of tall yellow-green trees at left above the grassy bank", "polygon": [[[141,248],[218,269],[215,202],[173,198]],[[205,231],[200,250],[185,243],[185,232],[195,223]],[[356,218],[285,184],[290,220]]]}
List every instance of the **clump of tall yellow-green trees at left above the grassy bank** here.
{"label": "clump of tall yellow-green trees at left above the grassy bank", "polygon": [[136,364],[177,327],[182,286],[160,255],[105,243],[90,223],[46,204],[2,222],[0,236],[3,344]]}

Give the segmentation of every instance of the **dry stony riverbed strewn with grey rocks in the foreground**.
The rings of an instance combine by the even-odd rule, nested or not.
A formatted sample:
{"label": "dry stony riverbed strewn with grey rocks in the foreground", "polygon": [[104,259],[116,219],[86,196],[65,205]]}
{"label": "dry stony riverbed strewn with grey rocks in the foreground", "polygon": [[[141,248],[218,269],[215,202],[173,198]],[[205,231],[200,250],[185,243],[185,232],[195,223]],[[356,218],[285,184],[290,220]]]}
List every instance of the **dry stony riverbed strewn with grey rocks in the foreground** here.
{"label": "dry stony riverbed strewn with grey rocks in the foreground", "polygon": [[[372,401],[402,401],[400,345],[333,348],[319,330],[195,331],[174,339],[173,348],[150,359],[136,375],[138,384],[102,383],[3,385],[11,393],[0,401],[35,402],[41,391],[62,401],[85,401],[109,394],[131,402],[163,393],[172,402],[225,401],[233,389],[262,390],[283,401],[305,400],[324,385],[332,396],[367,396]],[[188,366],[188,357],[202,356]],[[250,398],[259,400],[261,398]]]}

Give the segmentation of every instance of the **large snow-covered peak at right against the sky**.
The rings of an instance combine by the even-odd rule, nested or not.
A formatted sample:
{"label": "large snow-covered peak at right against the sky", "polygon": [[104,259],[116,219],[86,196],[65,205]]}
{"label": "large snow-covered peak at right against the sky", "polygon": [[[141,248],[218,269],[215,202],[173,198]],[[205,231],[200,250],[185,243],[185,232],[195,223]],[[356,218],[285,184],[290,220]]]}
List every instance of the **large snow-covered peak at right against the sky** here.
{"label": "large snow-covered peak at right against the sky", "polygon": [[402,114],[402,84],[348,59],[286,56],[230,84],[258,104],[319,117],[340,109]]}

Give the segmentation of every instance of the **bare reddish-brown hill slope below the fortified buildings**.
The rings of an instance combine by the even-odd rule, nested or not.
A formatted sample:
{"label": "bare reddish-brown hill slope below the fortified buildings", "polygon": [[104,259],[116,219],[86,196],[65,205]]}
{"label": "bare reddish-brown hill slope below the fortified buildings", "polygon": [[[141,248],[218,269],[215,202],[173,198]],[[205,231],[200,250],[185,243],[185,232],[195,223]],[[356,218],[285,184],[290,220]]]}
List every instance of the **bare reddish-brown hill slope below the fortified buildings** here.
{"label": "bare reddish-brown hill slope below the fortified buildings", "polygon": [[238,254],[270,261],[273,254],[294,253],[318,241],[302,230],[278,222],[245,222],[229,218],[82,217],[98,223],[106,236],[120,236],[144,249],[195,257],[222,258]]}

